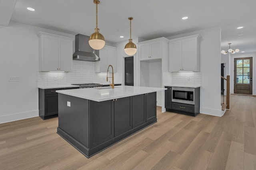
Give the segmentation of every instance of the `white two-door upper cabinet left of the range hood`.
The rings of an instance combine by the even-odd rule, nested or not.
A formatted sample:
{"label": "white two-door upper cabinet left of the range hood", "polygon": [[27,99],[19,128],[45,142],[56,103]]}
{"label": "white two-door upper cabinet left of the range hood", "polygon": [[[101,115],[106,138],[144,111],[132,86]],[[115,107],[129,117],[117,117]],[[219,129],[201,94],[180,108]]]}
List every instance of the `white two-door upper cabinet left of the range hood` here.
{"label": "white two-door upper cabinet left of the range hood", "polygon": [[39,32],[39,71],[72,71],[73,40]]}

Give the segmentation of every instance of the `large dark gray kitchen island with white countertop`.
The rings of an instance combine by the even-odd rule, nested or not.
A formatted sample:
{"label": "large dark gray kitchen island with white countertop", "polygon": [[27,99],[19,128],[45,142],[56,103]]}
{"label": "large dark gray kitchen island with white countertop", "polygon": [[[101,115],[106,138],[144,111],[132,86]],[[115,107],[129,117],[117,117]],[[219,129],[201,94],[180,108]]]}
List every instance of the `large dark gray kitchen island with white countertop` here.
{"label": "large dark gray kitchen island with white countertop", "polygon": [[115,86],[58,90],[57,133],[86,157],[156,123],[156,92]]}

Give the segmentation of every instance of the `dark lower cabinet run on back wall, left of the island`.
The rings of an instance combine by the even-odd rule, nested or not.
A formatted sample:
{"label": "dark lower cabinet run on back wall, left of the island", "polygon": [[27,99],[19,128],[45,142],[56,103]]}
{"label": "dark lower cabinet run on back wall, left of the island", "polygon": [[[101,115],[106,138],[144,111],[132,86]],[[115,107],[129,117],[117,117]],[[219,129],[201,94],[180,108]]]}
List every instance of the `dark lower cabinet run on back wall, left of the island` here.
{"label": "dark lower cabinet run on back wall, left of the island", "polygon": [[58,93],[56,90],[67,90],[72,88],[39,88],[39,117],[49,119],[58,116]]}

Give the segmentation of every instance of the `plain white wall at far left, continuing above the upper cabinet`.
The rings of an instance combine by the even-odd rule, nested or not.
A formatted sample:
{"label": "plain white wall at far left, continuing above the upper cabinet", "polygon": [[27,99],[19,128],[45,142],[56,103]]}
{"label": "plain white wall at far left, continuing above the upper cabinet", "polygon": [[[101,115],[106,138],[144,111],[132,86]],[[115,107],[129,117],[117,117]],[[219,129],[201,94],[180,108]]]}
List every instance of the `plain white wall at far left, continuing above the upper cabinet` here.
{"label": "plain white wall at far left, continuing above the upper cabinet", "polygon": [[[17,22],[0,28],[0,123],[38,116],[38,31],[74,38]],[[9,76],[20,81],[8,82]]]}

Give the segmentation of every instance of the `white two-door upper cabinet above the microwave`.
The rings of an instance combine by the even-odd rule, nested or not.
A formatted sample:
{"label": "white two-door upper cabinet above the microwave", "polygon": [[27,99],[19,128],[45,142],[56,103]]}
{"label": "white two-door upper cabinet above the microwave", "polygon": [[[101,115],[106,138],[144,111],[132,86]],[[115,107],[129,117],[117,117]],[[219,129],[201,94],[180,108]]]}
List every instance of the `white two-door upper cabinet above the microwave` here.
{"label": "white two-door upper cabinet above the microwave", "polygon": [[169,41],[169,71],[200,71],[199,35]]}

